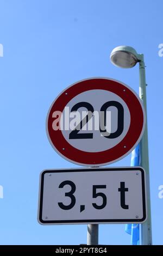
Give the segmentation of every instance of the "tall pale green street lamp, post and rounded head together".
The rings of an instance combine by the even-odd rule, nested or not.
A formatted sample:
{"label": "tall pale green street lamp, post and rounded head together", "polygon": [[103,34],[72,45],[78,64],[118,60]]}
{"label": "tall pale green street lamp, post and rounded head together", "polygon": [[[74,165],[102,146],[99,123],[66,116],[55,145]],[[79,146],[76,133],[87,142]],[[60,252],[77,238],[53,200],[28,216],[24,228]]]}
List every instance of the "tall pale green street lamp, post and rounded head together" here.
{"label": "tall pale green street lamp, post and rounded head together", "polygon": [[[146,100],[146,74],[143,54],[137,54],[135,49],[130,46],[118,46],[110,54],[111,63],[120,68],[133,68],[139,62],[139,96],[143,101],[147,117]],[[152,226],[151,226],[151,200],[149,187],[149,157],[148,157],[148,130],[147,120],[145,132],[141,139],[141,166],[146,171],[147,187],[147,221],[141,225],[141,244],[152,245]]]}

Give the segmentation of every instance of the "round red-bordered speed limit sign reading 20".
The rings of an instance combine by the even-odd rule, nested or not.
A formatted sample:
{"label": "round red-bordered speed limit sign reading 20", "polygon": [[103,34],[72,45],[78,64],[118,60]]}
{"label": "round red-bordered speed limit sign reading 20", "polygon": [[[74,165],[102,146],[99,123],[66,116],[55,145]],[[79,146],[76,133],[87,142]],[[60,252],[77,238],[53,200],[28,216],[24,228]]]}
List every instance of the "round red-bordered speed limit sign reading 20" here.
{"label": "round red-bordered speed limit sign reading 20", "polygon": [[46,125],[59,155],[83,166],[102,166],[136,147],[145,129],[145,110],[126,84],[90,78],[72,84],[54,100]]}

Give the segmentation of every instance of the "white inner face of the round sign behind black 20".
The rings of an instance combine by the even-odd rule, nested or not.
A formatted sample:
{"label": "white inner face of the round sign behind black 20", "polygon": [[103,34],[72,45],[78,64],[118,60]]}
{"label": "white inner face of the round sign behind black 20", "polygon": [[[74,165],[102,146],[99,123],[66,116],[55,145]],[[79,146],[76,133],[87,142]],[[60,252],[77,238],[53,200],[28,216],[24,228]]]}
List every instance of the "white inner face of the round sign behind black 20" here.
{"label": "white inner face of the round sign behind black 20", "polygon": [[[79,130],[78,134],[87,134],[93,132],[93,139],[87,138],[87,139],[70,139],[70,130],[62,130],[62,135],[68,141],[72,147],[77,148],[82,151],[86,152],[101,152],[104,150],[111,149],[115,147],[118,143],[122,141],[122,139],[126,136],[129,127],[130,127],[130,112],[128,109],[128,106],[124,100],[121,99],[120,96],[116,95],[115,93],[106,91],[106,90],[88,90],[84,93],[78,94],[76,97],[74,97],[71,101],[69,101],[65,107],[66,110],[69,111],[68,116],[71,117],[71,109],[77,105],[78,102],[82,102],[84,99],[85,102],[89,102],[91,106],[93,106],[94,114],[91,115],[91,118],[89,121],[82,127],[81,130]],[[115,138],[106,138],[107,135],[110,135],[111,133],[114,133],[117,131],[118,127],[118,110],[115,106],[110,106],[107,111],[108,113],[108,121],[106,121],[108,134],[107,132],[102,133],[99,130],[99,114],[98,117],[95,113],[100,113],[101,107],[106,102],[118,102],[121,104],[121,107],[123,108],[123,122],[125,126],[123,127],[123,131],[119,132]],[[82,117],[82,113],[84,115],[84,111],[86,111],[85,107],[80,107],[78,109],[78,113],[80,114],[80,117]],[[96,111],[96,112],[95,112]],[[67,111],[66,111],[67,112]],[[87,112],[86,112],[87,113]],[[65,111],[63,112],[63,119],[65,120]],[[73,118],[71,118],[73,119]],[[70,120],[71,120],[70,119]],[[80,124],[79,119],[79,124]],[[64,122],[63,122],[64,123]],[[71,123],[70,123],[71,124]],[[72,123],[73,124],[73,123]],[[71,128],[71,127],[70,127]],[[72,127],[74,129],[75,127]],[[89,130],[90,128],[90,130]]]}

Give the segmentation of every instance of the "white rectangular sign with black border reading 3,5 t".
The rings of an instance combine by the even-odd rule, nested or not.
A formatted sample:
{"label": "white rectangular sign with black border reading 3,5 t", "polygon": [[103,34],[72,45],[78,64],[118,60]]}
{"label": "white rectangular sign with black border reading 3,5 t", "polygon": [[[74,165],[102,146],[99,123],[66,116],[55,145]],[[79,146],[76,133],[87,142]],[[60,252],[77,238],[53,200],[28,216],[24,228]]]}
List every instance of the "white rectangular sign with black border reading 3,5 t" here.
{"label": "white rectangular sign with black border reading 3,5 t", "polygon": [[146,216],[141,167],[44,170],[40,224],[142,223]]}

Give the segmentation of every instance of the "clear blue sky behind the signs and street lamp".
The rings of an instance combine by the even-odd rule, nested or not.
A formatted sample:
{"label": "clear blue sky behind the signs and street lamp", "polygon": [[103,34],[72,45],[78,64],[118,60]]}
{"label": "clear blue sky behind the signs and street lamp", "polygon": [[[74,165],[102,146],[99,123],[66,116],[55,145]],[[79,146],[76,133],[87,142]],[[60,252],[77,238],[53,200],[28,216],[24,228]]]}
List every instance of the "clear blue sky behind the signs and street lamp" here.
{"label": "clear blue sky behind the signs and street lamp", "polygon": [[[55,153],[45,121],[61,90],[84,78],[115,78],[138,93],[138,66],[125,70],[110,63],[118,45],[145,54],[153,242],[163,244],[162,9],[161,0],[0,0],[1,245],[86,243],[86,225],[37,223],[40,172],[79,167]],[[129,165],[130,155],[112,164]],[[100,225],[99,243],[128,245],[130,236],[124,224]]]}

